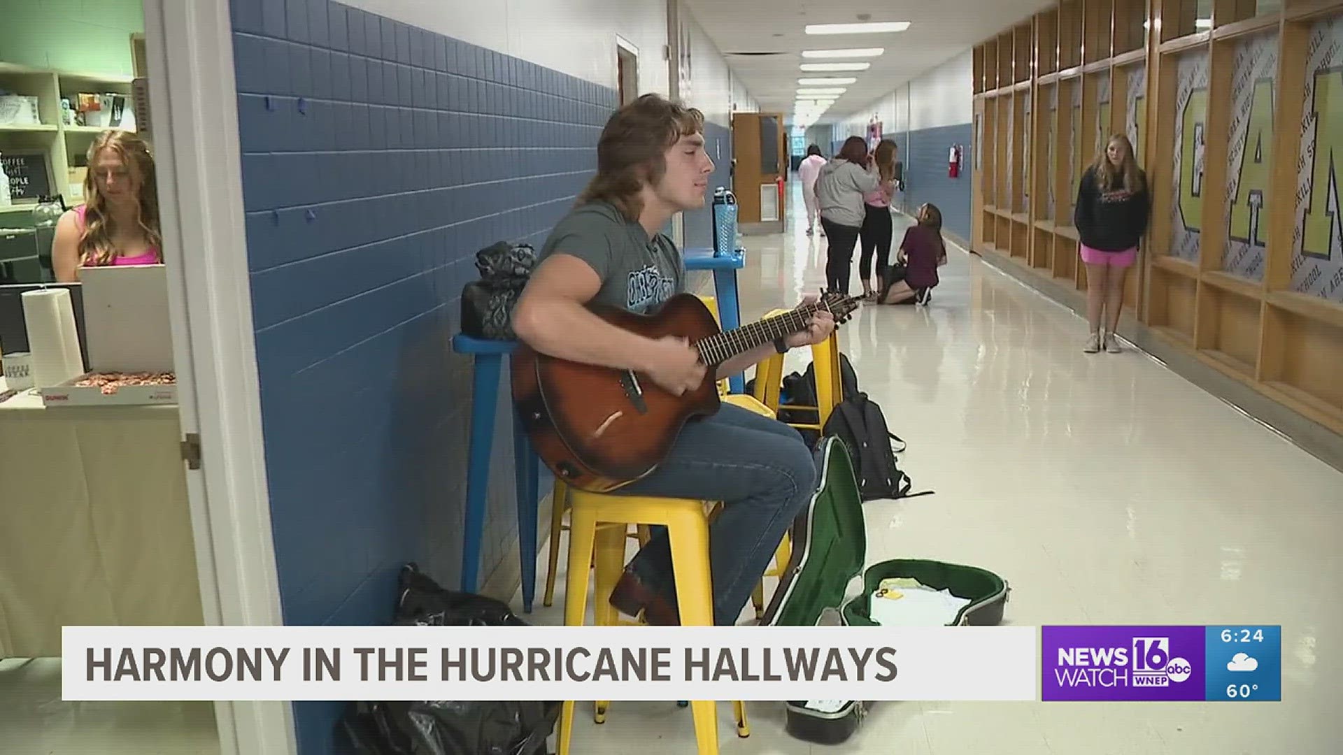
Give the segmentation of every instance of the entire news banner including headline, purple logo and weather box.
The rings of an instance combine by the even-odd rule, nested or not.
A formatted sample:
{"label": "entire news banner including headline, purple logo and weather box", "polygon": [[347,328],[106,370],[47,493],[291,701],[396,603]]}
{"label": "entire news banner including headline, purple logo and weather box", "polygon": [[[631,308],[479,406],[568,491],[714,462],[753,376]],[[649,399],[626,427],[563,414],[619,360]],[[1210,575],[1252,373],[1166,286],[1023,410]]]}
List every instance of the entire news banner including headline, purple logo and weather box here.
{"label": "entire news banner including headline, purple logo and weather box", "polygon": [[64,700],[1279,701],[1281,627],[63,629]]}

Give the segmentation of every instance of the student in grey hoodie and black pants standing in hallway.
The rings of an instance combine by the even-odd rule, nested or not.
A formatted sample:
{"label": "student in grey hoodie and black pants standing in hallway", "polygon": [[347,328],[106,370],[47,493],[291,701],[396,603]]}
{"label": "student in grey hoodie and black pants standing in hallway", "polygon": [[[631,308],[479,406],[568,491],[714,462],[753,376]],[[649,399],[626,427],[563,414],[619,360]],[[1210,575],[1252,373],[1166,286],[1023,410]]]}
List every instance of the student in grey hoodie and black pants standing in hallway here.
{"label": "student in grey hoodie and black pants standing in hallway", "polygon": [[826,290],[849,293],[853,247],[866,218],[864,195],[876,191],[880,176],[868,169],[868,142],[851,136],[839,154],[821,169],[817,179],[817,202],[821,203],[821,227],[826,249]]}

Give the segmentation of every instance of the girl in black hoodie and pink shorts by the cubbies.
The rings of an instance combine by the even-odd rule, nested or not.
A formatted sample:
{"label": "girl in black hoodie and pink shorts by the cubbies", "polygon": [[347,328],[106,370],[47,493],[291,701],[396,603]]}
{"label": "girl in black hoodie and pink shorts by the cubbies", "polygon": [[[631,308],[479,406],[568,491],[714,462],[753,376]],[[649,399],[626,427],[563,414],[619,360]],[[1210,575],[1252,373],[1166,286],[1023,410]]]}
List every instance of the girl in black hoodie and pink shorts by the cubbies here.
{"label": "girl in black hoodie and pink shorts by the cubbies", "polygon": [[[1128,137],[1115,134],[1082,175],[1073,211],[1086,265],[1086,320],[1091,324],[1082,349],[1086,353],[1099,352],[1101,345],[1109,353],[1119,353],[1115,330],[1124,308],[1124,277],[1138,261],[1138,242],[1147,232],[1150,216],[1147,176],[1133,160]],[[1103,310],[1109,325],[1105,332],[1101,330]]]}

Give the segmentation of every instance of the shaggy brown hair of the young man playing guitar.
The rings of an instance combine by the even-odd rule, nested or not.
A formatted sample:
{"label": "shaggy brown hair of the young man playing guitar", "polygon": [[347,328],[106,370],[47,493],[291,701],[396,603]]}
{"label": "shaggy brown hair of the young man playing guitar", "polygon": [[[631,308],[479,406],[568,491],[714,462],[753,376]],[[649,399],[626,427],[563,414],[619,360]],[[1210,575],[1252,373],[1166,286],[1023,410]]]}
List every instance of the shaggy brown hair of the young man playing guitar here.
{"label": "shaggy brown hair of the young man playing guitar", "polygon": [[645,94],[616,110],[596,142],[596,176],[577,204],[608,202],[630,222],[639,219],[643,184],[666,175],[666,150],[681,137],[704,130],[704,113],[657,94]]}

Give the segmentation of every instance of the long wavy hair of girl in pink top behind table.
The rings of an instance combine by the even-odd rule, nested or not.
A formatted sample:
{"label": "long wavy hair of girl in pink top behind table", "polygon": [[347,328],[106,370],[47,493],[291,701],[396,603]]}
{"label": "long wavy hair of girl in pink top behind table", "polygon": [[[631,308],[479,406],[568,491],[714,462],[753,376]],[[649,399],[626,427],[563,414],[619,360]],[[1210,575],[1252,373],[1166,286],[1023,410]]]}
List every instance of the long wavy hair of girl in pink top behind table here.
{"label": "long wavy hair of girl in pink top behind table", "polygon": [[111,239],[117,234],[115,222],[107,211],[107,200],[102,196],[99,180],[93,169],[94,160],[103,149],[110,149],[121,157],[130,171],[132,185],[140,202],[136,203],[136,224],[145,240],[154,249],[157,261],[164,261],[163,235],[158,230],[158,180],[154,176],[154,159],[149,145],[134,132],[106,130],[89,146],[89,172],[85,175],[85,228],[79,238],[79,262],[86,267],[111,265],[117,259],[117,247]]}

